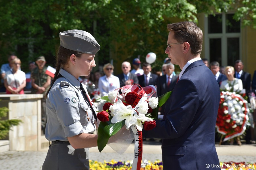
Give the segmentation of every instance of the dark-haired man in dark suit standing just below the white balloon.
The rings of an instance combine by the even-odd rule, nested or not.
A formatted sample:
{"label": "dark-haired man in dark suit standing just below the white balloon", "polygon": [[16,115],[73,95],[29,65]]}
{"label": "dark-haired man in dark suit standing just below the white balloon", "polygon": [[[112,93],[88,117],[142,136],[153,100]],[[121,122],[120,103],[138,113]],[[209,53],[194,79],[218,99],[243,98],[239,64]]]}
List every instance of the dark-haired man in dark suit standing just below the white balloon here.
{"label": "dark-haired man in dark suit standing just below the white balloon", "polygon": [[151,65],[149,63],[143,63],[142,69],[144,71],[144,74],[138,77],[139,85],[141,87],[149,85],[155,86],[158,76],[156,74],[151,73]]}

